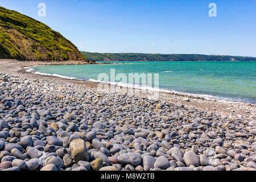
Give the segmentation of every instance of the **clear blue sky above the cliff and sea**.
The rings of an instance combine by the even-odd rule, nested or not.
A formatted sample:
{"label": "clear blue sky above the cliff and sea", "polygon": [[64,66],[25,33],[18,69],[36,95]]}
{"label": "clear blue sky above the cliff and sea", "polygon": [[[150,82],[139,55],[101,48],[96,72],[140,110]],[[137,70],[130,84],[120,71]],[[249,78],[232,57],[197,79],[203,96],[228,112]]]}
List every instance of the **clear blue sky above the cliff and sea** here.
{"label": "clear blue sky above the cliff and sea", "polygon": [[[39,16],[39,3],[46,16]],[[209,16],[210,3],[217,16]],[[255,0],[0,0],[80,51],[256,57]]]}

